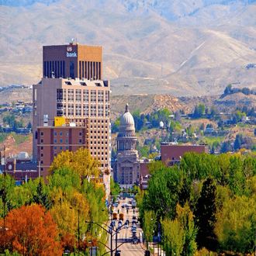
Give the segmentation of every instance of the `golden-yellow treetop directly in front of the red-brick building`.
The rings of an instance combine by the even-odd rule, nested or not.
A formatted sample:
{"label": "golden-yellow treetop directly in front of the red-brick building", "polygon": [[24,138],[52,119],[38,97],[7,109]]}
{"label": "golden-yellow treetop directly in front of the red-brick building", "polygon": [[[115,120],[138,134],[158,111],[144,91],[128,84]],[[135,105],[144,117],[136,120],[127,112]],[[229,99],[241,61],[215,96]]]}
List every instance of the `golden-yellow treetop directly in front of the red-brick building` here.
{"label": "golden-yellow treetop directly in front of the red-brick building", "polygon": [[62,151],[61,154],[54,157],[48,172],[54,174],[55,170],[64,166],[78,172],[81,178],[88,178],[92,175],[98,177],[100,173],[100,161],[93,158],[87,148],[82,147],[74,153],[68,150]]}

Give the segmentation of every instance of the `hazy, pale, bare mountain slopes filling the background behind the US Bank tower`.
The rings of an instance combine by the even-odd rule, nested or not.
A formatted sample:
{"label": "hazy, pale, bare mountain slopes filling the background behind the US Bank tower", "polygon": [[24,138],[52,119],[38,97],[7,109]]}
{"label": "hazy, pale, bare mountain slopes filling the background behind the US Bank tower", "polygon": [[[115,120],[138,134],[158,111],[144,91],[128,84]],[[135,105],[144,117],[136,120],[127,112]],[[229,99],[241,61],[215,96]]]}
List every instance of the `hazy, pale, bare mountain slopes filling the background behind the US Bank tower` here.
{"label": "hazy, pale, bare mountain slopes filling the background behind the US Bank tower", "polygon": [[0,86],[42,77],[42,46],[103,47],[112,94],[217,95],[255,87],[254,1],[2,0]]}

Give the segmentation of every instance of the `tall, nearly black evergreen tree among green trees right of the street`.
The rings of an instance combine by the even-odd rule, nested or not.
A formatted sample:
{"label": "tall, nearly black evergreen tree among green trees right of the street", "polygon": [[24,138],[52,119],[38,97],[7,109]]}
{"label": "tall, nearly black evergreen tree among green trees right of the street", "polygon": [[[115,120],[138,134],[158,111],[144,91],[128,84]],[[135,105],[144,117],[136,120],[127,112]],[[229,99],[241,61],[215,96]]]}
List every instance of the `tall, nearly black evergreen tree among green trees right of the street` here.
{"label": "tall, nearly black evergreen tree among green trees right of the street", "polygon": [[207,239],[215,238],[214,224],[216,222],[216,185],[209,177],[202,184],[200,198],[195,207],[195,223],[199,228],[197,241],[199,245],[206,244]]}

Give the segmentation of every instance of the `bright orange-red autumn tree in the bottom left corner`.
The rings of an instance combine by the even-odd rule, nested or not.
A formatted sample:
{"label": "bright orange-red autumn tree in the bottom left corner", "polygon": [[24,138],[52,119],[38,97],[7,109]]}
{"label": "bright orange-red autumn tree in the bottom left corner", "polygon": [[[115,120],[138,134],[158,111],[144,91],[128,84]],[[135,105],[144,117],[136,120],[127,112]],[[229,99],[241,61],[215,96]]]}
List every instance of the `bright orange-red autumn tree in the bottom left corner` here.
{"label": "bright orange-red autumn tree in the bottom left corner", "polygon": [[[0,220],[3,227],[4,220]],[[62,255],[56,224],[43,206],[21,206],[5,217],[8,230],[0,232],[0,246],[27,256]]]}

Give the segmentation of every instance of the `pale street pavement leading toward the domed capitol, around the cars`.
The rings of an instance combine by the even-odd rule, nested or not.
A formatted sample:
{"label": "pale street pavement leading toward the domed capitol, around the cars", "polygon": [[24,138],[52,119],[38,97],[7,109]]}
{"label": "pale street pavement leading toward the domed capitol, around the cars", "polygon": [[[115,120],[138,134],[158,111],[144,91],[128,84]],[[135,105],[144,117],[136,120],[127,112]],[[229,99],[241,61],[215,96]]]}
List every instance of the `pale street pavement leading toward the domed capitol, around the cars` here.
{"label": "pale street pavement leading toward the domed capitol, around the cars", "polygon": [[[116,235],[117,235],[117,247],[122,244],[123,242],[126,242],[125,244],[122,244],[120,247],[117,248],[117,250],[121,251],[122,256],[144,256],[144,249],[141,247],[140,243],[138,244],[133,244],[132,238],[133,238],[133,233],[132,233],[132,221],[133,221],[133,215],[137,216],[139,213],[137,213],[137,208],[135,209],[135,214],[133,214],[133,209],[132,205],[129,204],[128,202],[131,201],[132,199],[119,199],[119,206],[114,207],[113,212],[118,212],[123,213],[123,221],[122,225],[126,222],[126,220],[129,220],[129,227],[126,228],[125,226],[122,227],[120,230],[119,234],[116,234],[114,232],[114,235],[112,237],[112,248],[116,248]],[[127,214],[127,209],[122,208],[121,206],[123,204],[127,204],[129,206],[128,214]],[[119,215],[118,215],[118,220],[116,220],[116,228],[118,227],[118,222],[119,222]],[[137,223],[137,234],[136,236],[140,238],[140,233],[142,232],[142,229],[140,229],[140,224]],[[108,241],[108,246],[110,247],[110,236],[109,236],[109,241]],[[113,256],[115,255],[115,252],[113,253]]]}

